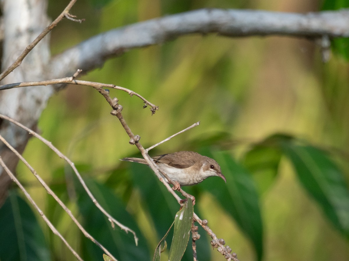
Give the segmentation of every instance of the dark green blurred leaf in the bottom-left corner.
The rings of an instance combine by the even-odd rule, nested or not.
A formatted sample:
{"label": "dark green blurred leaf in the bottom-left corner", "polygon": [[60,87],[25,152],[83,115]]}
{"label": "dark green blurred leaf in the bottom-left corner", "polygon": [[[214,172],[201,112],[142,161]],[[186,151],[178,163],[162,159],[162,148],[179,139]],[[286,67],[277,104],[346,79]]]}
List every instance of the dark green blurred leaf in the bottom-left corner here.
{"label": "dark green blurred leaf in the bottom-left corner", "polygon": [[0,231],[0,260],[51,260],[34,213],[15,191],[0,208]]}

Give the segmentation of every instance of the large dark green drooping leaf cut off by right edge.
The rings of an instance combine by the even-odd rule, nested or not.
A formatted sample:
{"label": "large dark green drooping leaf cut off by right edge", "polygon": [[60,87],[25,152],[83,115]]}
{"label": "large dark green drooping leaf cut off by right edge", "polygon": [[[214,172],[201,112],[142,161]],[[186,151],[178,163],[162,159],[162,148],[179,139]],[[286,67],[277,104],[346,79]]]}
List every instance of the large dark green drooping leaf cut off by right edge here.
{"label": "large dark green drooping leaf cut off by right edge", "polygon": [[298,179],[332,224],[349,237],[349,190],[343,173],[326,153],[312,146],[284,143]]}

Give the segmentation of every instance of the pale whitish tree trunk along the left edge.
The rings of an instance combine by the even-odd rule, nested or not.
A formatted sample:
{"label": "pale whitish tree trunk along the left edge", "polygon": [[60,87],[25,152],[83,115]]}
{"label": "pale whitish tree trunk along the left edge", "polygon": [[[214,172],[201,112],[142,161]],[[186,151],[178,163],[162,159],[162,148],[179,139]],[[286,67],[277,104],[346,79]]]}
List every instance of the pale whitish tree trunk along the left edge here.
{"label": "pale whitish tree trunk along the left edge", "polygon": [[[30,42],[49,25],[46,8],[46,0],[1,1],[4,30],[1,71],[12,64]],[[46,79],[45,68],[49,59],[49,36],[46,36],[1,84]],[[0,92],[0,113],[16,119],[25,126],[35,128],[52,92],[51,86],[3,90]],[[22,129],[10,125],[7,121],[0,121],[0,134],[20,152],[24,150],[29,138]],[[0,156],[14,172],[18,158],[4,144],[0,144]],[[6,198],[11,182],[0,167],[0,205]]]}

